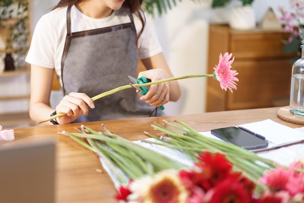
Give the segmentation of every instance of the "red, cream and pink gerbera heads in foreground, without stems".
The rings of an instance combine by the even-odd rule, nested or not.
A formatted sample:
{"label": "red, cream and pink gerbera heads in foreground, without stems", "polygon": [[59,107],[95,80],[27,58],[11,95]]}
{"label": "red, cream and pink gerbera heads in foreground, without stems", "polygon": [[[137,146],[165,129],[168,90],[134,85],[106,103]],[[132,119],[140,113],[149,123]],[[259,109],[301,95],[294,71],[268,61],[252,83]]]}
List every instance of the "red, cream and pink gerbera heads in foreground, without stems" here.
{"label": "red, cream and pink gerbera heads in foreground, without stems", "polygon": [[127,203],[301,203],[304,164],[266,171],[266,188],[254,195],[255,184],[221,153],[204,152],[192,169],[163,170],[120,186],[117,200]]}

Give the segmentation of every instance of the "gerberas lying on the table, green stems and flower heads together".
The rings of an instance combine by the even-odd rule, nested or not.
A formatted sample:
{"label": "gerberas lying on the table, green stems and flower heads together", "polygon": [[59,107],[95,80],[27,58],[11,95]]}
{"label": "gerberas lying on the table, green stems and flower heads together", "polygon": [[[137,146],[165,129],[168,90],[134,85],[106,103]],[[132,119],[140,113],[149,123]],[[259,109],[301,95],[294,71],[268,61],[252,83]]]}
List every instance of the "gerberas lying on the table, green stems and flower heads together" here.
{"label": "gerberas lying on the table, green stems and flower heads together", "polygon": [[[127,203],[304,203],[302,162],[279,166],[177,122],[183,127],[165,121],[184,133],[152,124],[166,135],[157,138],[146,132],[164,141],[147,142],[186,153],[194,161],[192,165],[125,140],[104,126],[103,133],[82,126],[79,133],[62,134],[71,136],[105,160],[108,171],[114,172],[120,183],[116,185],[116,199]],[[89,145],[77,137],[85,137]]]}

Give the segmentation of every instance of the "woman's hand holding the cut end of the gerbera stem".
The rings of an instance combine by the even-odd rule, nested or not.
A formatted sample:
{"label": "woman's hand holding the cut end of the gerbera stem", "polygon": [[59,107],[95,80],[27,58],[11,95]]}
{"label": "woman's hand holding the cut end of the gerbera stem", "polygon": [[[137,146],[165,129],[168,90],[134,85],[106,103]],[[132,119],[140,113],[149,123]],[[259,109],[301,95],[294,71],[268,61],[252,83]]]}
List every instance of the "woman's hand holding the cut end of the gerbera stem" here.
{"label": "woman's hand holding the cut end of the gerbera stem", "polygon": [[70,123],[80,117],[82,114],[88,114],[88,107],[95,108],[92,99],[84,93],[71,92],[66,95],[56,106],[56,112],[66,115],[56,118],[60,124]]}

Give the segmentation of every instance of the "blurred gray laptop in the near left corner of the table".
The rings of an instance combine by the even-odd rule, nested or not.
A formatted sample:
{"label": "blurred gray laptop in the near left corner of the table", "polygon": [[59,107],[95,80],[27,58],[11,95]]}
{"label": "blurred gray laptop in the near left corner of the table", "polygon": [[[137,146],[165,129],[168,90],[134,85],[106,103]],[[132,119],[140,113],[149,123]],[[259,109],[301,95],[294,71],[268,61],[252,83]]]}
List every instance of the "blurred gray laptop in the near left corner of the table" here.
{"label": "blurred gray laptop in the near left corner of the table", "polygon": [[54,203],[55,141],[8,142],[0,143],[0,202]]}

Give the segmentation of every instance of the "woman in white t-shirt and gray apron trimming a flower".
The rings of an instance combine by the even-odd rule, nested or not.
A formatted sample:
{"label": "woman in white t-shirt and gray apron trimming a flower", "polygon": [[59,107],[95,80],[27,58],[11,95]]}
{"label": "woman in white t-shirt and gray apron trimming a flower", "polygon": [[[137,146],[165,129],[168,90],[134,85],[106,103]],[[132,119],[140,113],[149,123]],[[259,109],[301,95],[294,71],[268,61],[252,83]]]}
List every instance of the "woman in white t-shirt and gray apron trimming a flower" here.
{"label": "woman in white t-shirt and gray apron trimming a flower", "polygon": [[[90,98],[130,83],[138,59],[152,81],[173,77],[152,27],[143,15],[142,0],[61,0],[35,27],[26,62],[31,64],[30,116],[45,124],[147,117],[155,106],[177,101],[177,81],[151,85],[140,98],[126,89],[92,101]],[[52,109],[53,71],[64,92]],[[158,111],[160,113],[161,111]],[[161,114],[160,114],[161,115]]]}

